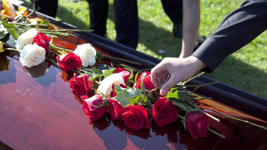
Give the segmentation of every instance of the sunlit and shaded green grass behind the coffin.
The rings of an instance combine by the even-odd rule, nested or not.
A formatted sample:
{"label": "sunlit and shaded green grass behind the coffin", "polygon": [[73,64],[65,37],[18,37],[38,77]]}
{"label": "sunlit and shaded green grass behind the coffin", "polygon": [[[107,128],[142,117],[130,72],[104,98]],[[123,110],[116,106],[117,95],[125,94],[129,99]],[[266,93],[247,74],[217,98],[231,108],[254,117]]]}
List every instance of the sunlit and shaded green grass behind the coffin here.
{"label": "sunlit and shaded green grass behind the coffin", "polygon": [[[208,37],[219,26],[223,18],[238,8],[243,0],[201,0],[201,22],[199,33]],[[139,43],[137,51],[163,59],[178,57],[181,39],[172,34],[172,21],[164,12],[160,0],[137,0],[139,15]],[[25,6],[29,0],[25,0]],[[85,0],[72,3],[59,0],[58,20],[66,21],[80,29],[89,29],[90,17]],[[115,41],[116,31],[113,15],[113,0],[109,1],[107,38]],[[166,50],[160,54],[158,50]],[[237,87],[267,98],[267,32],[250,44],[228,56],[212,74],[205,74],[219,82]]]}

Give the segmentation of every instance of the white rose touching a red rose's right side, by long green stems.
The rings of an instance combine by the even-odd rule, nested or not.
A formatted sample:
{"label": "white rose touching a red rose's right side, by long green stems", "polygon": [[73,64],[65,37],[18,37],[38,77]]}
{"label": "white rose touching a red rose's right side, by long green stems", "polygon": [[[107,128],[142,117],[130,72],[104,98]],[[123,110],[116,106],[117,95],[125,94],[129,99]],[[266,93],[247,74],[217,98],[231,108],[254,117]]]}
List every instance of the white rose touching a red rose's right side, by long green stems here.
{"label": "white rose touching a red rose's right side, by long green stems", "polygon": [[81,58],[84,67],[87,67],[88,65],[93,66],[95,64],[96,51],[91,44],[78,45],[74,54]]}

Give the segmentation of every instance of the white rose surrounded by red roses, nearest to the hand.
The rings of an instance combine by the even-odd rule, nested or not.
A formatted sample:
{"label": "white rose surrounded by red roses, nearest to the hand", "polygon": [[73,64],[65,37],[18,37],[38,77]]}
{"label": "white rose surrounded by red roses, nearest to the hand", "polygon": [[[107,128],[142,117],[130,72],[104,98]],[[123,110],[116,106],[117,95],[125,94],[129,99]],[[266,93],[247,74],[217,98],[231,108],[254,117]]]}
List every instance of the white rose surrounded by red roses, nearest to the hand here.
{"label": "white rose surrounded by red roses, nearest to the hand", "polygon": [[110,93],[112,91],[112,85],[125,84],[122,76],[119,73],[111,74],[101,81],[97,92],[101,92],[106,95],[106,98],[110,98]]}

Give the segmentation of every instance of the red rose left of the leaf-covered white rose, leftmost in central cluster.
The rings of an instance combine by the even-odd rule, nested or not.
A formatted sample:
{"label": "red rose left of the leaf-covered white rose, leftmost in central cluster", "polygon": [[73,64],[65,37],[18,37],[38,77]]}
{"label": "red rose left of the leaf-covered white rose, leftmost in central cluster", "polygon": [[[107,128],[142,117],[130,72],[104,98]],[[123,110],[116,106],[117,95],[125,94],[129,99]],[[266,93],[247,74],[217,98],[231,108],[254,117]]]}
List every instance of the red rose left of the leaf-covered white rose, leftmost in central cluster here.
{"label": "red rose left of the leaf-covered white rose, leftmost in central cluster", "polygon": [[93,86],[93,81],[88,80],[89,75],[74,76],[69,80],[70,88],[78,97],[87,95]]}

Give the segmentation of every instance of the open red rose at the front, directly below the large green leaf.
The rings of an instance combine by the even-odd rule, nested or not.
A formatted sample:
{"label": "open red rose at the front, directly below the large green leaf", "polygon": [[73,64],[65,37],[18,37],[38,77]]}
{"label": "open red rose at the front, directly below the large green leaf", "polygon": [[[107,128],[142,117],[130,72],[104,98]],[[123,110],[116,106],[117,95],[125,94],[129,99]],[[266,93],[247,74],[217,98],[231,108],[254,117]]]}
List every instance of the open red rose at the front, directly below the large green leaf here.
{"label": "open red rose at the front, directly below the large green leaf", "polygon": [[149,128],[149,118],[144,106],[128,105],[129,110],[124,112],[121,117],[125,125],[129,128],[139,130],[141,128]]}

